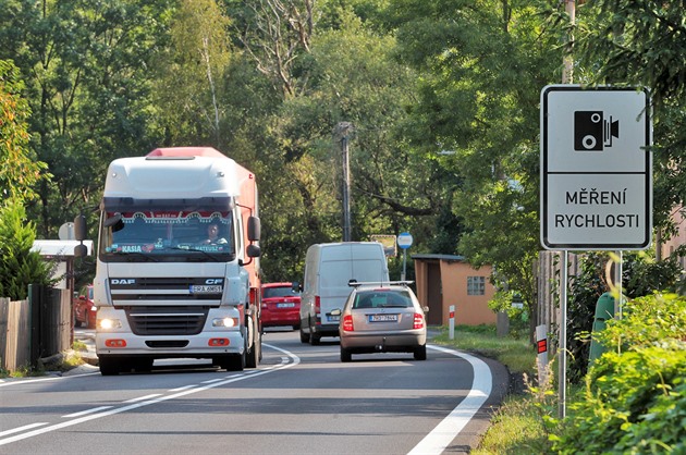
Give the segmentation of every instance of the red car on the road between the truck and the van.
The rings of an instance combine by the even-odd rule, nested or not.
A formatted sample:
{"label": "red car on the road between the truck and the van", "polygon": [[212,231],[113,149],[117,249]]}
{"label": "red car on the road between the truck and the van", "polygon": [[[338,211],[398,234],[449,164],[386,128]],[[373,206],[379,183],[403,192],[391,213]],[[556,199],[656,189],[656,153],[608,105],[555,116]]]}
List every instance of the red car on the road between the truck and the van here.
{"label": "red car on the road between the truck and the van", "polygon": [[262,327],[301,328],[301,294],[293,283],[262,284]]}

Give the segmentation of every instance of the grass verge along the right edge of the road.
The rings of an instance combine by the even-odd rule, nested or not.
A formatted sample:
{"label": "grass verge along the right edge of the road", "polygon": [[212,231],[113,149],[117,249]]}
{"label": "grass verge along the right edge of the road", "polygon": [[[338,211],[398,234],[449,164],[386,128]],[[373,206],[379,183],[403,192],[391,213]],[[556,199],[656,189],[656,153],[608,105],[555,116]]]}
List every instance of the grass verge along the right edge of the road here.
{"label": "grass verge along the right edge of the road", "polygon": [[443,327],[433,342],[493,358],[527,382],[523,393],[505,397],[473,454],[550,453],[548,435],[556,430],[556,394],[550,384],[537,388],[528,383],[528,378],[537,374],[536,351],[528,337],[499,337],[494,325],[460,325],[455,328],[454,340],[449,340],[448,329]]}

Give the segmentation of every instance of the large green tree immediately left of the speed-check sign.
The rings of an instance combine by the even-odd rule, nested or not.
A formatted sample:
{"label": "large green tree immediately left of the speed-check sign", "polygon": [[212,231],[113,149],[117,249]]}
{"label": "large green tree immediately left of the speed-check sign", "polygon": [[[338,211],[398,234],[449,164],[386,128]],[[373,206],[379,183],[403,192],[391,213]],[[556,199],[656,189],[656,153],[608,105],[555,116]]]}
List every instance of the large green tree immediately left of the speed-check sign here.
{"label": "large green tree immediately left of the speed-check sign", "polygon": [[[543,33],[536,1],[391,2],[399,53],[421,73],[406,137],[462,183],[452,210],[464,233],[458,253],[491,263],[497,286],[516,291],[536,313],[538,128],[541,87],[562,56]],[[535,318],[531,318],[535,323]]]}

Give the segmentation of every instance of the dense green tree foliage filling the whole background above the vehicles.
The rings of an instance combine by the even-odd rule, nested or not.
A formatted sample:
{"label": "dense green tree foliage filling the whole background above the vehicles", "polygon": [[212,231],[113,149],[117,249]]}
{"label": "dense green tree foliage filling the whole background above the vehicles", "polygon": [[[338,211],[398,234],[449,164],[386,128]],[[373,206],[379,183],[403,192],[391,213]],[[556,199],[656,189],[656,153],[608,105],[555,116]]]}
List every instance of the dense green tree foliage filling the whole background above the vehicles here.
{"label": "dense green tree foliage filling the whole background above the vehicles", "polygon": [[587,1],[573,24],[556,0],[0,0],[24,146],[54,175],[28,217],[45,236],[79,211],[95,225],[109,161],[213,145],[257,175],[264,278],[296,280],[307,246],[342,236],[345,123],[353,238],[409,231],[413,251],[491,263],[534,315],[540,90],[565,50],[577,82],[651,87],[669,234],[686,195],[682,3]]}

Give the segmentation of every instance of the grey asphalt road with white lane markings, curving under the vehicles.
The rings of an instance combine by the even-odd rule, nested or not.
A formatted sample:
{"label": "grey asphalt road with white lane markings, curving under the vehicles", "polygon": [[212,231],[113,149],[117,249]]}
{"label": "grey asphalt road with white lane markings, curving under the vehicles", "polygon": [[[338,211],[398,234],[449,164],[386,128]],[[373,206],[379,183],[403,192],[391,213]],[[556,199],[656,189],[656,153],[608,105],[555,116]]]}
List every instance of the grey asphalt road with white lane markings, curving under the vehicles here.
{"label": "grey asphalt road with white lane markings, curving under the vehicles", "polygon": [[[83,335],[83,334],[82,334]],[[268,331],[259,368],[156,361],[148,374],[0,382],[0,454],[464,453],[507,389],[501,365],[430,346],[354,356]]]}

